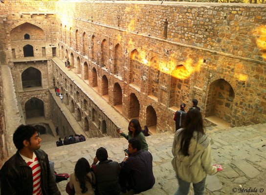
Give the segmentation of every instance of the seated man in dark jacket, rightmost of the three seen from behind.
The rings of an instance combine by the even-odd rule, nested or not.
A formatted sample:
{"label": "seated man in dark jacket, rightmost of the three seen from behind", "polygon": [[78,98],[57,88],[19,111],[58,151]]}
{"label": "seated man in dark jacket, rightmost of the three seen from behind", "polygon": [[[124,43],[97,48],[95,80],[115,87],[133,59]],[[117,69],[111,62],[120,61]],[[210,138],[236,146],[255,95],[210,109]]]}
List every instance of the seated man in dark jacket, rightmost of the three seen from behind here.
{"label": "seated man in dark jacket, rightmost of the three seen from behind", "polygon": [[122,192],[133,189],[139,194],[151,189],[155,184],[153,174],[153,156],[148,151],[141,150],[140,141],[136,138],[129,140],[129,156],[121,162],[119,183]]}

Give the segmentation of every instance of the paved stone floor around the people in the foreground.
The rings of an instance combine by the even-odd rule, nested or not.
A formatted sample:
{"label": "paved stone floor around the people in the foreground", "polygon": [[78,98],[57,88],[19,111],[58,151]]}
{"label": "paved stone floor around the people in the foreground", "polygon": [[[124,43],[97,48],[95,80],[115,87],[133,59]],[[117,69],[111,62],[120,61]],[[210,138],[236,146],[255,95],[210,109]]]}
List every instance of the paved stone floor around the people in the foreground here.
{"label": "paved stone floor around the people in the foreground", "polygon": [[[206,195],[265,195],[266,187],[266,124],[228,129],[208,127],[207,134],[212,137],[213,163],[222,164],[224,170],[217,175],[208,176]],[[109,158],[120,162],[127,140],[121,138],[89,138],[85,142],[56,147],[56,138],[41,135],[42,149],[55,162],[58,173],[71,173],[80,157],[92,163],[99,147],[105,147]],[[155,134],[146,137],[149,151],[153,155],[155,186],[141,195],[173,195],[177,189],[177,179],[171,165],[173,133]],[[58,183],[66,195],[67,181]],[[255,191],[251,193],[251,190]],[[260,192],[264,190],[263,192]],[[248,192],[250,191],[250,192]],[[257,191],[257,192],[256,192]],[[133,193],[131,193],[133,194]],[[190,195],[194,195],[191,189]]]}

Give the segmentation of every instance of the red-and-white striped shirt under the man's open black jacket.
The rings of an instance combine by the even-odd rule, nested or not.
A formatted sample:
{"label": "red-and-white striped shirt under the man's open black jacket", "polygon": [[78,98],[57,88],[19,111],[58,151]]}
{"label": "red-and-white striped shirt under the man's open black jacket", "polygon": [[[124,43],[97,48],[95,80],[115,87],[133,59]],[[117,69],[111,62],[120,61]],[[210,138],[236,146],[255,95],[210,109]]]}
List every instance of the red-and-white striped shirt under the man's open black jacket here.
{"label": "red-and-white striped shirt under the man's open black jacket", "polygon": [[[21,154],[20,154],[21,155]],[[22,156],[23,160],[27,163],[27,165],[32,170],[32,177],[33,177],[33,194],[32,195],[42,195],[42,188],[41,188],[41,166],[39,160],[37,159],[35,153],[33,153],[32,159]]]}

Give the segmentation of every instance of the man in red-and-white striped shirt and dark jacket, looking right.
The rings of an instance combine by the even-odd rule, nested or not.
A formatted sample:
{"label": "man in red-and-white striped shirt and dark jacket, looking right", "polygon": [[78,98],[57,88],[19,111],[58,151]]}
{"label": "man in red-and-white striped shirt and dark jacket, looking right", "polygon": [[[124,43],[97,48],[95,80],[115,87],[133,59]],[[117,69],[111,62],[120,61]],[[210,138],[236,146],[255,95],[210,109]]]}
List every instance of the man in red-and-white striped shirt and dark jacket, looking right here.
{"label": "man in red-and-white striped shirt and dark jacket, looking right", "polygon": [[[1,195],[61,195],[49,168],[48,156],[40,149],[41,141],[37,129],[31,125],[20,125],[16,129],[13,142],[18,151],[0,170]],[[33,179],[35,176],[40,179]]]}

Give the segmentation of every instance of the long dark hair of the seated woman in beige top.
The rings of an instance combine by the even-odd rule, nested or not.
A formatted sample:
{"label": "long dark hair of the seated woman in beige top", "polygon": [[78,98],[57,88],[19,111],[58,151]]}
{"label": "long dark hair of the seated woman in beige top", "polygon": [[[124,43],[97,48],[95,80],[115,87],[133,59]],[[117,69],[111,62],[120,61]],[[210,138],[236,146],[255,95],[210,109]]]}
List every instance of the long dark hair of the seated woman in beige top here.
{"label": "long dark hair of the seated woman in beige top", "polygon": [[88,191],[88,188],[86,187],[86,180],[89,181],[89,183],[91,183],[90,178],[87,176],[89,172],[90,172],[90,166],[88,160],[83,157],[78,159],[75,165],[75,176],[78,182],[80,183],[82,194],[85,194]]}

